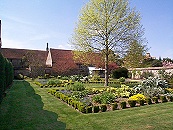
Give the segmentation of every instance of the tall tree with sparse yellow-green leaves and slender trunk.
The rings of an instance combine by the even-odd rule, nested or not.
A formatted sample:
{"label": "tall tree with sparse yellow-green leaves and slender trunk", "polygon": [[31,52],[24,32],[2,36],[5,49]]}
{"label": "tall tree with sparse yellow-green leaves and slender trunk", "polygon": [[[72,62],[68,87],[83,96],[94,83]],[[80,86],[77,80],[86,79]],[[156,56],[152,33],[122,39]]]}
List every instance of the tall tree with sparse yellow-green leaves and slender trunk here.
{"label": "tall tree with sparse yellow-green leaves and slender trunk", "polygon": [[105,86],[108,86],[110,50],[124,54],[134,40],[143,36],[140,14],[128,0],[90,0],[82,9],[72,45],[78,51],[99,52],[105,62]]}

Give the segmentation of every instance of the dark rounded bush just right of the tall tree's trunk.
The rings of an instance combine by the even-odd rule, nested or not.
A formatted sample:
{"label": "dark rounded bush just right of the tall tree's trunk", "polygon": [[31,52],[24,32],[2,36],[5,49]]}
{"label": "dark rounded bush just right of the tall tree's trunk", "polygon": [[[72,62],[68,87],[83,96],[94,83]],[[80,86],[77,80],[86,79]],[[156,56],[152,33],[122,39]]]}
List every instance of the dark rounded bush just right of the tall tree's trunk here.
{"label": "dark rounded bush just right of the tall tree's trunk", "polygon": [[128,69],[125,67],[118,68],[112,72],[112,77],[115,79],[119,79],[121,77],[128,78]]}

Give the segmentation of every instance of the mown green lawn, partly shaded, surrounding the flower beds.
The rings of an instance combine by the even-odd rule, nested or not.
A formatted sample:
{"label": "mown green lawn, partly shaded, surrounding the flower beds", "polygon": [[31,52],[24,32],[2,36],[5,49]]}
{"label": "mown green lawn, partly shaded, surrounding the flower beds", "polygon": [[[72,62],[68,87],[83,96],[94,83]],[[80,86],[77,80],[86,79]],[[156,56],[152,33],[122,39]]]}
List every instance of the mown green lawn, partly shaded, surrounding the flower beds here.
{"label": "mown green lawn, partly shaded, surrounding the flower beds", "polygon": [[0,130],[172,130],[173,103],[81,114],[26,81],[14,81],[0,106]]}

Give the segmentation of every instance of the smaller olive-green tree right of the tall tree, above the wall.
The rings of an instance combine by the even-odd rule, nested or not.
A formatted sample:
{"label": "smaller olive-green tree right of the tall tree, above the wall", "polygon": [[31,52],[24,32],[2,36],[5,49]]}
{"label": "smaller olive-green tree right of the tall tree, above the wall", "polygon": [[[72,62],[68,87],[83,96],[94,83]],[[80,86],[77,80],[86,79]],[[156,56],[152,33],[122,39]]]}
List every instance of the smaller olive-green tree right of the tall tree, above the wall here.
{"label": "smaller olive-green tree right of the tall tree, above the wall", "polygon": [[124,66],[127,68],[141,67],[147,51],[146,45],[134,41],[130,44],[127,55],[124,57]]}

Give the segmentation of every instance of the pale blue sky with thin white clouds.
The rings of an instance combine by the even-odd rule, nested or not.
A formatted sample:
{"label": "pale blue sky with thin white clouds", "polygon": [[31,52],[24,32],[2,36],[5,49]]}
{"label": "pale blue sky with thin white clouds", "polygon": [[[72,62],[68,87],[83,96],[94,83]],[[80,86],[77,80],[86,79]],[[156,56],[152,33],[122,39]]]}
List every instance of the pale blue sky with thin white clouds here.
{"label": "pale blue sky with thin white clouds", "polygon": [[[70,39],[89,0],[0,0],[2,48],[71,49]],[[129,0],[141,14],[151,56],[173,59],[173,0]]]}

